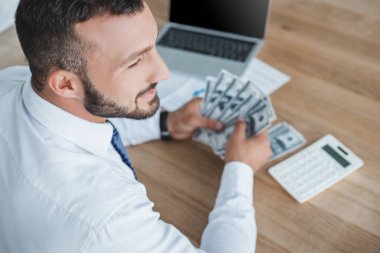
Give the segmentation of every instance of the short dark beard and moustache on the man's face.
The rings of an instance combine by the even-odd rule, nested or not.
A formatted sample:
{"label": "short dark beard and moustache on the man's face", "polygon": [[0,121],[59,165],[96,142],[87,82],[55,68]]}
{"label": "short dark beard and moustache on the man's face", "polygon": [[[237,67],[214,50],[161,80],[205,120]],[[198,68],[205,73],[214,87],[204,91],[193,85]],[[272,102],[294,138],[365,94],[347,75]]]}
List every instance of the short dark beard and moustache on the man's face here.
{"label": "short dark beard and moustache on the man's face", "polygon": [[157,83],[150,84],[146,89],[140,91],[134,100],[135,109],[130,111],[128,107],[124,105],[119,105],[115,101],[112,101],[106,98],[95,86],[91,83],[87,75],[84,75],[82,78],[84,92],[85,92],[85,101],[84,107],[92,113],[93,115],[103,117],[103,118],[129,118],[129,119],[147,119],[153,116],[159,106],[160,99],[156,96],[148,102],[150,109],[143,110],[139,108],[137,99],[149,92],[149,90],[155,88]]}

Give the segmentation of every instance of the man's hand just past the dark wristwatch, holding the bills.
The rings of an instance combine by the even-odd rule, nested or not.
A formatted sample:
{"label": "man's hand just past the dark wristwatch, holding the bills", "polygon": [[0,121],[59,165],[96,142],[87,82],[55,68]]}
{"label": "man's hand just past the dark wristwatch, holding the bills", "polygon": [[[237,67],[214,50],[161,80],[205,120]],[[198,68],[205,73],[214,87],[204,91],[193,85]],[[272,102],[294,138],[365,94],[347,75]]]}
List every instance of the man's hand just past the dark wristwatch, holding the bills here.
{"label": "man's hand just past the dark wristwatch, holding the bills", "polygon": [[173,139],[187,139],[197,128],[208,128],[214,131],[223,129],[221,122],[202,117],[201,102],[202,99],[195,98],[177,111],[168,114],[167,125]]}

